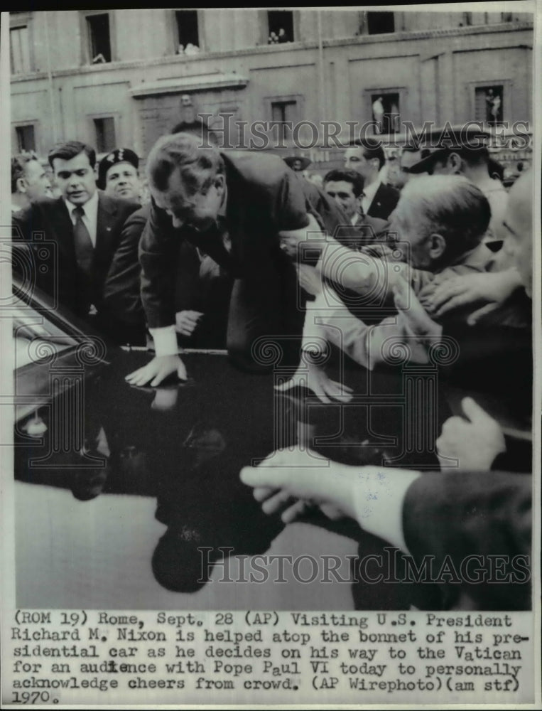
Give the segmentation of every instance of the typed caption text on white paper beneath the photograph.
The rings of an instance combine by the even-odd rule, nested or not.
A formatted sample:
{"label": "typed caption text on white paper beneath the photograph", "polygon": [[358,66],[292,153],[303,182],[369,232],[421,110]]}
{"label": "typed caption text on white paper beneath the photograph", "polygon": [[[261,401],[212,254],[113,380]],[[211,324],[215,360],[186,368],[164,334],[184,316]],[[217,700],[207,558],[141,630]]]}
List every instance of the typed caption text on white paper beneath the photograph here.
{"label": "typed caption text on white paper beneath the photograph", "polygon": [[527,612],[18,610],[2,702],[529,703],[532,629]]}

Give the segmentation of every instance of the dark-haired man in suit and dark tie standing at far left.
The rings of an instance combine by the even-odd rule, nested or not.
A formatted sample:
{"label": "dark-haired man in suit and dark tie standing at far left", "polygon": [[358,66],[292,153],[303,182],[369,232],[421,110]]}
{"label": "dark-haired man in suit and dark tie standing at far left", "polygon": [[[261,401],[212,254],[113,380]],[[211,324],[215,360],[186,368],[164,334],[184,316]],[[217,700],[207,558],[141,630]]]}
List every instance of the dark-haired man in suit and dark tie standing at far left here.
{"label": "dark-haired man in suit and dark tie standing at far left", "polygon": [[[32,252],[36,286],[99,330],[114,333],[104,308],[104,284],[124,222],[139,205],[97,190],[96,154],[90,146],[60,144],[48,160],[62,196],[43,198],[14,215],[14,236]],[[43,241],[33,238],[38,232],[53,242],[48,257]]]}

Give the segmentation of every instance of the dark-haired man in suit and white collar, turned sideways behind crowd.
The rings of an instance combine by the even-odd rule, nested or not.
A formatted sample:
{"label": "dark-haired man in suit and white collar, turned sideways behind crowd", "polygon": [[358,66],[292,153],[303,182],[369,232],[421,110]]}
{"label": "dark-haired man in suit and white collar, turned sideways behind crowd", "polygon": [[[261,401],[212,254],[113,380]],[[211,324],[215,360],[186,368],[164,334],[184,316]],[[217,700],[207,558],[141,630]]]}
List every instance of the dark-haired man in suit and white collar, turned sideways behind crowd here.
{"label": "dark-haired man in suit and white collar, turned sideways behind crowd", "polygon": [[386,163],[384,149],[376,141],[365,139],[347,148],[345,169],[356,171],[364,179],[362,209],[365,215],[387,220],[399,201],[399,191],[380,181]]}

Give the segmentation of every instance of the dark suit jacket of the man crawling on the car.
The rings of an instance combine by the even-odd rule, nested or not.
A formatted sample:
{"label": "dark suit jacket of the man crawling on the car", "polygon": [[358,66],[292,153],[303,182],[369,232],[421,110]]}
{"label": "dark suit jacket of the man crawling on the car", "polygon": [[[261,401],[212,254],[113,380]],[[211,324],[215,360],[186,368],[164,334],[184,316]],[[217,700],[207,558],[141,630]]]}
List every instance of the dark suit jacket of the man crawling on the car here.
{"label": "dark suit jacket of the man crawling on the car", "polygon": [[175,323],[179,240],[193,242],[233,277],[258,280],[269,269],[291,269],[279,245],[281,230],[306,227],[308,213],[318,215],[330,234],[347,223],[335,201],[298,178],[277,156],[249,151],[224,151],[221,156],[227,185],[223,224],[232,250],[223,247],[218,227],[205,233],[175,229],[165,211],[153,205],[139,245],[141,297],[150,328]]}

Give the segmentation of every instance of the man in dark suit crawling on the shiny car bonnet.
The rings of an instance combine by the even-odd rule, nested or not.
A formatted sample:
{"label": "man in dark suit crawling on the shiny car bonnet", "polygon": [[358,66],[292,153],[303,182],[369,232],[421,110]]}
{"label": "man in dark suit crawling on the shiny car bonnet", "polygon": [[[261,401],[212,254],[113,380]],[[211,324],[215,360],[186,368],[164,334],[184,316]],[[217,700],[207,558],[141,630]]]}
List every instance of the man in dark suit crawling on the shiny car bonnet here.
{"label": "man in dark suit crawling on the shiny car bonnet", "polygon": [[[269,337],[280,339],[294,365],[304,314],[291,258],[297,252],[288,256],[281,249],[281,235],[295,232],[294,242],[296,235],[304,240],[309,228],[321,240],[323,226],[333,235],[335,228],[348,225],[342,210],[277,156],[202,148],[188,134],[160,139],[148,156],[147,172],[156,205],[139,255],[156,358],[131,373],[129,382],[158,385],[175,370],[186,376],[174,327],[179,240],[193,242],[234,277],[227,346],[235,362],[252,370],[269,368],[273,363],[264,363],[264,354],[257,352],[258,339]],[[310,188],[318,192],[318,201]]]}

